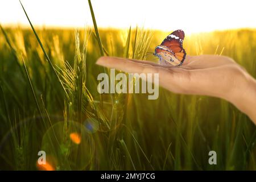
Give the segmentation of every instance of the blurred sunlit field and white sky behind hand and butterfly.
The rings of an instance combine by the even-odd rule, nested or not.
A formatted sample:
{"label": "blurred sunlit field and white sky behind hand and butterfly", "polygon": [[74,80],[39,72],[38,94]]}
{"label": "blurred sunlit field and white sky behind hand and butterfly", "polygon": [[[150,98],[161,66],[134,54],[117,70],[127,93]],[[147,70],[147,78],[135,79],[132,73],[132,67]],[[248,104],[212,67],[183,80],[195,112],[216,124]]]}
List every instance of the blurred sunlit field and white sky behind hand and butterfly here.
{"label": "blurred sunlit field and white sky behind hand and butterfly", "polygon": [[254,1],[21,2],[0,1],[0,169],[256,169],[256,127],[233,105],[162,88],[158,100],[98,94],[109,70],[95,64],[158,61],[147,53],[182,29],[188,55],[230,56],[255,78]]}

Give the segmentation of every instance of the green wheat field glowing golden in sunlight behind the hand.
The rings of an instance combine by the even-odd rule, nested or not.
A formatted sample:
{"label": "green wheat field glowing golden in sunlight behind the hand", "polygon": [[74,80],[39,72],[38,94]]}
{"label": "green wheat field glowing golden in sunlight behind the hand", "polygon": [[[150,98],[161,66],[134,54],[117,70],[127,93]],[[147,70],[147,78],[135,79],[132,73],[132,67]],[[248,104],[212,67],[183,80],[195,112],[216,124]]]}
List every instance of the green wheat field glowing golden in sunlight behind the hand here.
{"label": "green wheat field glowing golden in sunlight behind the hand", "polygon": [[[173,30],[98,29],[91,11],[94,26],[77,30],[1,26],[1,170],[256,170],[256,127],[224,100],[99,94],[100,56],[157,61],[147,52]],[[184,48],[230,56],[256,77],[256,30],[187,35]]]}

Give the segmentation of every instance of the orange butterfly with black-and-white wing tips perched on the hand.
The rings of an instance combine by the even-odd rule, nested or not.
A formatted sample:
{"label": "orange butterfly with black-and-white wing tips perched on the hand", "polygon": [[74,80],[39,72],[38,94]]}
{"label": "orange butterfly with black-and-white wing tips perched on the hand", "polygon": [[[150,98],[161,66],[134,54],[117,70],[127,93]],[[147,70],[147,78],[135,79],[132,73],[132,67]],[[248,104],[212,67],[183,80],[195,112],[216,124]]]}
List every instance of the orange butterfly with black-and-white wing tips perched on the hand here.
{"label": "orange butterfly with black-and-white wing tips perched on the hand", "polygon": [[185,34],[183,30],[175,30],[168,35],[160,46],[156,46],[154,55],[159,58],[160,64],[183,64],[186,52],[182,47]]}

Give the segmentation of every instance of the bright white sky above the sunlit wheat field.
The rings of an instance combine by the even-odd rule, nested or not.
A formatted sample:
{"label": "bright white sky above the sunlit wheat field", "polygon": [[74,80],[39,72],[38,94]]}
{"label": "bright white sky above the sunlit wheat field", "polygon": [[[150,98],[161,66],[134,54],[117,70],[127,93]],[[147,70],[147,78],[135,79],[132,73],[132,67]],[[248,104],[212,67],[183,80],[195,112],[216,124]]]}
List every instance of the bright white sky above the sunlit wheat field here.
{"label": "bright white sky above the sunlit wheat field", "polygon": [[[92,24],[87,0],[22,0],[33,24],[84,27]],[[98,27],[144,24],[186,32],[256,28],[254,0],[92,0]],[[0,0],[0,23],[28,25],[19,0]]]}

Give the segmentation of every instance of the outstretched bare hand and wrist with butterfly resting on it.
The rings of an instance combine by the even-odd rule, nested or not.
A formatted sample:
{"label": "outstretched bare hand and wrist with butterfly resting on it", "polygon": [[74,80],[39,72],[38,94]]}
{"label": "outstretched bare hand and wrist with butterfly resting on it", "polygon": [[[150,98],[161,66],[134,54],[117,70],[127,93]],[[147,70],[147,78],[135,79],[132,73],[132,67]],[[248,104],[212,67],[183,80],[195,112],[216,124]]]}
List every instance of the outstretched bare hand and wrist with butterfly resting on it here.
{"label": "outstretched bare hand and wrist with butterfly resting on it", "polygon": [[256,125],[256,80],[230,57],[186,56],[180,67],[150,61],[100,57],[98,65],[128,73],[159,73],[159,85],[180,94],[223,98]]}

